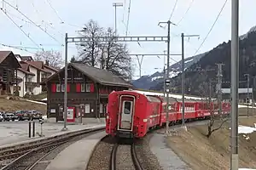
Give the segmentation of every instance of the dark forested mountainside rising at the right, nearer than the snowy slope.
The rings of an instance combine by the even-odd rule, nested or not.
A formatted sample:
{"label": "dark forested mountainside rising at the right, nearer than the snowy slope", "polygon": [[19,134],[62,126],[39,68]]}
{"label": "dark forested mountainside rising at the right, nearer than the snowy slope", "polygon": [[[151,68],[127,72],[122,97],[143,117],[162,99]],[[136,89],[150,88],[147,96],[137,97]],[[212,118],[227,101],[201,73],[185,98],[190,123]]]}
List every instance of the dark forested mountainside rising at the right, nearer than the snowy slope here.
{"label": "dark forested mountainside rising at the right, nearer than the snowy slope", "polygon": [[[253,26],[245,35],[240,37],[239,44],[239,80],[245,81],[244,74],[250,74],[250,87],[255,86],[256,75],[256,26]],[[230,81],[230,41],[219,44],[213,48],[204,57],[199,59],[197,63],[190,65],[189,70],[185,71],[185,93],[194,95],[208,94],[209,80],[217,82],[217,63],[223,63],[223,82]],[[201,67],[200,71],[198,66]],[[208,71],[207,71],[208,70]],[[211,71],[214,70],[214,71]],[[172,92],[181,93],[181,74],[172,78]],[[216,84],[212,84],[215,88]],[[153,89],[160,90],[163,82],[157,84]],[[247,83],[240,83],[239,88],[246,88]],[[222,88],[230,88],[230,83],[223,83]]]}

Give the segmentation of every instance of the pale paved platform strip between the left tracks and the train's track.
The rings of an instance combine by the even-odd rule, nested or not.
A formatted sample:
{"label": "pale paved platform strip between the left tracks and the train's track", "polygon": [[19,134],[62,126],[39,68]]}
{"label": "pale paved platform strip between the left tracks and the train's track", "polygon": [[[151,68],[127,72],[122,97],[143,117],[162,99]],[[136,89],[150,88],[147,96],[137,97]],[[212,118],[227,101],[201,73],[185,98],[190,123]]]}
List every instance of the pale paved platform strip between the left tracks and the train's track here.
{"label": "pale paved platform strip between the left tracks and the train's track", "polygon": [[69,145],[50,161],[46,170],[84,170],[96,144],[106,135],[95,133]]}

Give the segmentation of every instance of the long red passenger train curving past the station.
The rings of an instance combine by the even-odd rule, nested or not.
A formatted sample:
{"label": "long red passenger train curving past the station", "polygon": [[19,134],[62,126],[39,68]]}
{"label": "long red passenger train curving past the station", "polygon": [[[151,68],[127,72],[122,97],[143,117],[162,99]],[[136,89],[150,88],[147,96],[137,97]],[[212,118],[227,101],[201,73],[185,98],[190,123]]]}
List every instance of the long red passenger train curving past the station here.
{"label": "long red passenger train curving past the station", "polygon": [[[169,121],[181,122],[182,102],[169,98]],[[210,116],[208,102],[185,100],[185,120]],[[218,103],[211,103],[218,114]],[[166,125],[166,98],[139,94],[134,91],[113,91],[108,96],[106,133],[121,138],[143,138],[149,129]],[[213,111],[213,110],[212,110]],[[223,114],[230,113],[230,103],[222,103]]]}

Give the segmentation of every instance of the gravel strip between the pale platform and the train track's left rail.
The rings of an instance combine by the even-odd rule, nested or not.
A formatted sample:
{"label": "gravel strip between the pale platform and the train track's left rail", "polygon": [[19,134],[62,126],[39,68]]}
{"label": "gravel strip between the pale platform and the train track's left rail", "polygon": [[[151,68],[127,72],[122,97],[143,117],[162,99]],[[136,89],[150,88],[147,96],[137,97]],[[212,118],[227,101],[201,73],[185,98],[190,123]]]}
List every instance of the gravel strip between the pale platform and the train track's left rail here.
{"label": "gravel strip between the pale platform and the train track's left rail", "polygon": [[110,163],[111,151],[115,139],[107,137],[96,146],[96,149],[87,166],[87,170],[108,170]]}

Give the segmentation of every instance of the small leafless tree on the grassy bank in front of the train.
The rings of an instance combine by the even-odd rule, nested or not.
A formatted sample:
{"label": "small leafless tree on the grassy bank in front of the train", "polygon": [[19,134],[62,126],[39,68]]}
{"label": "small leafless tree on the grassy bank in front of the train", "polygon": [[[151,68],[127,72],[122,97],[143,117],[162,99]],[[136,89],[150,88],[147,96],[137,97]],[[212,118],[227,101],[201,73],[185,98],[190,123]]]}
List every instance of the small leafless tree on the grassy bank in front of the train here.
{"label": "small leafless tree on the grassy bank in front of the train", "polygon": [[[213,132],[218,131],[221,127],[223,127],[224,122],[229,121],[229,118],[223,116],[222,113],[218,112],[219,105],[218,101],[214,99],[217,95],[214,93],[212,88],[212,83],[203,82],[199,87],[199,92],[203,97],[208,96],[208,99],[204,99],[206,105],[204,105],[205,109],[210,113],[210,120],[207,125],[207,138],[210,138]],[[218,112],[218,114],[215,114]]]}

